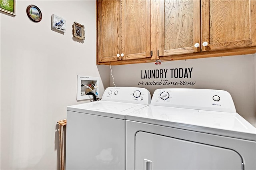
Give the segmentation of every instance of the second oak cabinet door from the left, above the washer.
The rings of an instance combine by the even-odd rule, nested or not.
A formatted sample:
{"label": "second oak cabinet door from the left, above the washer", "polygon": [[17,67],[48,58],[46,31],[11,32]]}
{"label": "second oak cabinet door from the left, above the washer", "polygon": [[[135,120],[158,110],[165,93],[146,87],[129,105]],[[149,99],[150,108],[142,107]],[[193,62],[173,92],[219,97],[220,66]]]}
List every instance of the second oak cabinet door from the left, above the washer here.
{"label": "second oak cabinet door from the left, above the washer", "polygon": [[122,60],[151,57],[150,0],[121,0]]}

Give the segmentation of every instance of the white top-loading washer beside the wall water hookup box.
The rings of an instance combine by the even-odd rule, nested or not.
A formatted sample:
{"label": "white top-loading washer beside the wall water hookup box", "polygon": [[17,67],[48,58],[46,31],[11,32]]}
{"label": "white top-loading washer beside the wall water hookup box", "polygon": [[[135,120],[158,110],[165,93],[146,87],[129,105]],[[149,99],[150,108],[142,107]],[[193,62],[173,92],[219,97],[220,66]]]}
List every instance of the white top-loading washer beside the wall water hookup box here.
{"label": "white top-loading washer beside the wall water hookup box", "polygon": [[67,107],[66,170],[124,170],[126,115],[150,101],[147,89],[108,87],[101,101]]}

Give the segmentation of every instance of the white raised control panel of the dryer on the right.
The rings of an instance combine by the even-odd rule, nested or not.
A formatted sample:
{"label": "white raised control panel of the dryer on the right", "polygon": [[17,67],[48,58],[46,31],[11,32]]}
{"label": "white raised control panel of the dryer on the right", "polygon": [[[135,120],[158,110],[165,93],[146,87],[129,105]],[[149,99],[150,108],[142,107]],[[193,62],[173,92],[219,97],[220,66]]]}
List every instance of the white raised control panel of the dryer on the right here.
{"label": "white raised control panel of the dryer on the right", "polygon": [[236,113],[227,91],[213,89],[156,89],[151,105]]}

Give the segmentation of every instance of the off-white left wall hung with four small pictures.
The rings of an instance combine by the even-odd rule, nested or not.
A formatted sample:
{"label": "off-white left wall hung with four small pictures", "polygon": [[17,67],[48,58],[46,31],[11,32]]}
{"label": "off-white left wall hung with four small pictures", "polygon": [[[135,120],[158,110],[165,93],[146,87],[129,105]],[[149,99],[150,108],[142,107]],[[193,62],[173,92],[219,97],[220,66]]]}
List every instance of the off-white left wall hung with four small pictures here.
{"label": "off-white left wall hung with four small pictures", "polygon": [[[30,4],[42,11],[38,23],[26,14]],[[109,86],[109,67],[96,66],[96,2],[18,0],[16,14],[0,14],[1,169],[56,170],[56,122],[81,103],[77,75],[101,77],[102,93]],[[51,30],[52,14],[66,19],[66,33]],[[73,38],[74,22],[85,26],[84,41]]]}

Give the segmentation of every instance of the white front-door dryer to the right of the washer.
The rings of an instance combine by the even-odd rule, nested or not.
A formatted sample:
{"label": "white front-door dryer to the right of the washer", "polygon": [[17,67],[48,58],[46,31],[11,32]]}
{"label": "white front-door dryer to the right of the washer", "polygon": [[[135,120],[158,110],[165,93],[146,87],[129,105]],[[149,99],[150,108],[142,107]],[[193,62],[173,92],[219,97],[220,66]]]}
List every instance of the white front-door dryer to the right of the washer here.
{"label": "white front-door dryer to the right of the washer", "polygon": [[127,170],[255,170],[256,128],[231,95],[211,89],[157,89],[127,115]]}

